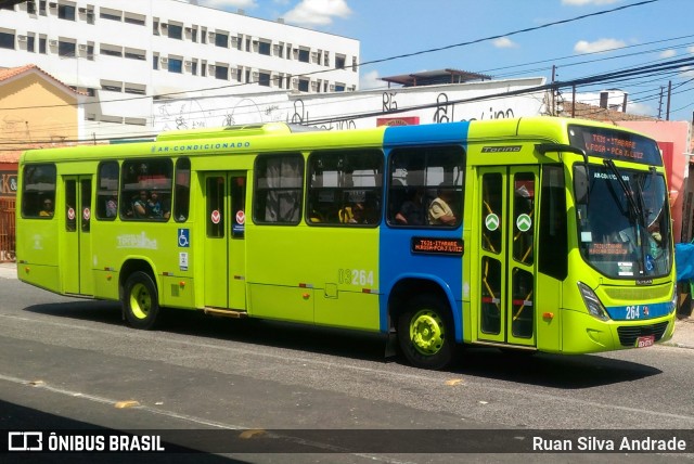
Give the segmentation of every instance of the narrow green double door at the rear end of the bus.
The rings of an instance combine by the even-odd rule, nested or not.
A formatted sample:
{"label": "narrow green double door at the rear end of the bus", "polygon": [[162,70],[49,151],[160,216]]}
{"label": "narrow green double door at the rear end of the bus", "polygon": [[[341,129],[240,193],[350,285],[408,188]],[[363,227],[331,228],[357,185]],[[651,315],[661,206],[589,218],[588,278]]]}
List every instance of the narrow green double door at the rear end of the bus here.
{"label": "narrow green double door at the rear end of the bus", "polygon": [[[75,295],[93,295],[91,272],[91,176],[63,177],[63,205],[55,214],[63,215],[59,224],[65,231],[65,248],[61,259],[67,266],[63,274],[64,292]],[[74,265],[72,265],[74,263]]]}

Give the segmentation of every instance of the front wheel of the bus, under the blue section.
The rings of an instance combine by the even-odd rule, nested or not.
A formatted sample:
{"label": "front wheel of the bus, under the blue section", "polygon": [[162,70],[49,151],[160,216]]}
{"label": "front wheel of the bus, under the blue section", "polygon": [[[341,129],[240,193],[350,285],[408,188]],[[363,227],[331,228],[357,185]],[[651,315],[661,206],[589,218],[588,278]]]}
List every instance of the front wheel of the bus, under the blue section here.
{"label": "front wheel of the bus, under the blue section", "polygon": [[453,362],[455,338],[448,305],[433,295],[414,297],[398,318],[398,343],[416,368],[440,370]]}

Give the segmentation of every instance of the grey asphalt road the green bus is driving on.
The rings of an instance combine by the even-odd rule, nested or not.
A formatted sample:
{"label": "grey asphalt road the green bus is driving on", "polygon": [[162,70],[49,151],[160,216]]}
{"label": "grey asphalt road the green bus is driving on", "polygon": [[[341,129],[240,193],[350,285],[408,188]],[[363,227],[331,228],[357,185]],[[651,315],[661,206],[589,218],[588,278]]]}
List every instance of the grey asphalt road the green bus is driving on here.
{"label": "grey asphalt road the green bus is driving on", "polygon": [[[218,443],[208,449],[244,462],[419,463],[451,461],[444,452],[454,451],[447,448],[454,446],[452,439],[437,441],[435,435],[444,429],[483,429],[487,441],[471,434],[485,446],[499,434],[509,436],[504,429],[514,430],[512,438],[529,429],[680,429],[687,431],[673,434],[690,439],[694,428],[691,349],[654,347],[569,358],[472,349],[454,369],[426,372],[385,360],[383,339],[376,336],[188,312],[169,317],[158,331],[141,332],[123,324],[117,305],[64,298],[12,279],[0,279],[0,301],[3,429],[187,429],[193,431],[171,442],[191,449],[204,449],[209,438],[194,430],[231,430],[228,441],[239,441],[241,430],[257,430],[243,443],[266,450],[308,446],[312,452],[332,451],[335,440],[316,436],[316,430],[375,430],[355,438],[363,447],[339,454],[257,453],[256,448],[241,454],[235,448],[215,448]],[[388,440],[403,438],[391,431],[396,429],[435,430],[415,444],[428,450],[439,443],[439,452],[394,453]],[[345,444],[339,437],[337,444]],[[694,440],[687,447],[692,452]],[[80,455],[53,455],[56,461],[65,456]],[[570,454],[568,462],[619,460],[692,462],[693,455]]]}

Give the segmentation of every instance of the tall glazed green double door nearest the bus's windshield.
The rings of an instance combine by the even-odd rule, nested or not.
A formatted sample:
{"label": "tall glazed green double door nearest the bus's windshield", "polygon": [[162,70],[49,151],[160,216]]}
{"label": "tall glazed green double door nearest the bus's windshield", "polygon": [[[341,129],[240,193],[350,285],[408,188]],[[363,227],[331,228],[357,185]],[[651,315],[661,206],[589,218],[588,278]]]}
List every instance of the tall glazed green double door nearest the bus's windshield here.
{"label": "tall glazed green double door nearest the bus's windshield", "polygon": [[480,208],[477,337],[481,341],[536,346],[537,166],[478,171]]}

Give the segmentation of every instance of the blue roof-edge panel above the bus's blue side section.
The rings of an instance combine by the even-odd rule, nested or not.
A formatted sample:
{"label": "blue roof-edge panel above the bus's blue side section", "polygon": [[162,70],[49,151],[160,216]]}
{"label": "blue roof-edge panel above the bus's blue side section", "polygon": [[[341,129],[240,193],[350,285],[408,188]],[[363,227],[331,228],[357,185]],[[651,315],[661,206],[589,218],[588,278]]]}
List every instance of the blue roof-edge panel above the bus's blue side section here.
{"label": "blue roof-edge panel above the bus's blue side section", "polygon": [[428,124],[424,126],[394,126],[386,129],[386,145],[422,145],[428,143],[465,143],[470,123]]}

